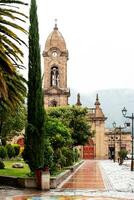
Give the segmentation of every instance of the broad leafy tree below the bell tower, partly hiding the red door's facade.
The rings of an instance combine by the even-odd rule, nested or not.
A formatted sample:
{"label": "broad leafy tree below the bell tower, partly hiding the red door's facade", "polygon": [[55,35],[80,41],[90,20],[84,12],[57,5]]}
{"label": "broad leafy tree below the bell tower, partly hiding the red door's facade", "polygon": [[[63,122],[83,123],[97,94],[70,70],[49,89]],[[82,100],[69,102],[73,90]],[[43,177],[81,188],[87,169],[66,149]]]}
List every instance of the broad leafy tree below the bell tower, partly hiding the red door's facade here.
{"label": "broad leafy tree below the bell tower, partly hiding the red door's facade", "polygon": [[48,110],[48,115],[58,118],[67,126],[72,135],[73,146],[84,145],[93,136],[86,118],[87,109],[78,106],[56,107]]}

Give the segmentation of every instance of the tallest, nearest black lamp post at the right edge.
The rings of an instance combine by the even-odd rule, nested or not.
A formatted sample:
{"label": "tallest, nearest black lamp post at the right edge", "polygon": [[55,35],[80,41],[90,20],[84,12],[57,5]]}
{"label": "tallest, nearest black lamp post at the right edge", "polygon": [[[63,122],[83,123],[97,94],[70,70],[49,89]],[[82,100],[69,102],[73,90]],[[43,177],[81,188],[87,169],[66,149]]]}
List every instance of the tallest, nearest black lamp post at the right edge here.
{"label": "tallest, nearest black lamp post at the right edge", "polygon": [[133,122],[134,122],[134,113],[132,113],[131,116],[127,116],[127,110],[126,108],[124,107],[123,110],[122,110],[122,114],[125,118],[128,118],[128,119],[131,119],[132,120],[132,156],[131,156],[131,171],[133,171],[133,168],[134,168],[134,164],[133,164],[133,161],[134,161],[134,156],[133,156]]}

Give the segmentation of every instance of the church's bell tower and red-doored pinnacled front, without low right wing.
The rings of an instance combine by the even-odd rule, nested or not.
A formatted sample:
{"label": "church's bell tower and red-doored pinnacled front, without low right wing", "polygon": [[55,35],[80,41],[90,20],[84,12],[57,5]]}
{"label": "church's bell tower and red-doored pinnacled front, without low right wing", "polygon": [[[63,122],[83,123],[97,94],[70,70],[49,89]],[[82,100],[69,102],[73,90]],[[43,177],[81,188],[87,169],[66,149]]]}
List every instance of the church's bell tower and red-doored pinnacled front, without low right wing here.
{"label": "church's bell tower and red-doored pinnacled front, without low right wing", "polygon": [[[55,23],[53,31],[48,36],[44,58],[44,106],[66,106],[70,96],[67,87],[67,61],[69,59],[66,42]],[[81,105],[80,95],[77,97],[77,106]],[[105,149],[105,120],[107,119],[100,107],[99,97],[96,96],[95,108],[89,108],[88,121],[95,130],[95,137],[89,143],[80,147],[84,159],[106,158]]]}

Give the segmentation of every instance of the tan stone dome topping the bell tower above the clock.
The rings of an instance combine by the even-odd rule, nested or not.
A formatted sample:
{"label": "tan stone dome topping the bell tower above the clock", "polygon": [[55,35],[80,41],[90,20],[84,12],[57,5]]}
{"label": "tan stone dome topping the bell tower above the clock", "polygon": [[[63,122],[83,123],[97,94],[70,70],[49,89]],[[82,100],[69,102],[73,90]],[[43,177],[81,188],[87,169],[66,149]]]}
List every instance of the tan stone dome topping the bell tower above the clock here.
{"label": "tan stone dome topping the bell tower above the clock", "polygon": [[45,51],[49,51],[51,48],[59,48],[61,51],[66,51],[66,43],[62,34],[58,31],[57,24],[55,24],[54,30],[50,33],[46,40]]}

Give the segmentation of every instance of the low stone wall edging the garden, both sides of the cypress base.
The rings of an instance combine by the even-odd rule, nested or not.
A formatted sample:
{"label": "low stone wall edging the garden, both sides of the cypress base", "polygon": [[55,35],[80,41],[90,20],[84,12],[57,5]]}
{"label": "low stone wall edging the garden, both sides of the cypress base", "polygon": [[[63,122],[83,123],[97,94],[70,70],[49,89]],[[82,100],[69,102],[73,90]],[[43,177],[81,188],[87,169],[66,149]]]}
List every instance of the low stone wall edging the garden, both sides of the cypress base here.
{"label": "low stone wall edging the garden, both sides of the cypress base", "polygon": [[[75,171],[83,161],[76,163],[74,166],[67,167],[66,170],[60,173],[58,176],[51,176],[50,188],[55,189],[60,183],[62,183],[68,176]],[[28,178],[16,178],[11,176],[0,176],[0,185],[8,185],[21,188],[37,188],[35,177]]]}

